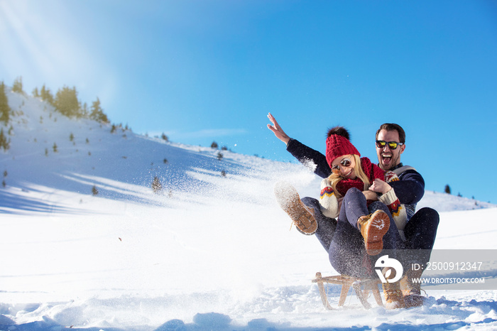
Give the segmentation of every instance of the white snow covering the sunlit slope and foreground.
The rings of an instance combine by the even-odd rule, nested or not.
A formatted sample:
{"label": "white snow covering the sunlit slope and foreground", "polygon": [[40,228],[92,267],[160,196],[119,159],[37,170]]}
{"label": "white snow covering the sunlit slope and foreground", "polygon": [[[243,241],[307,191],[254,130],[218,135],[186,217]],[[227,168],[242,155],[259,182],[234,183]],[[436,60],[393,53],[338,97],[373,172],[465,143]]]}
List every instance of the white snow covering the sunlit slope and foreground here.
{"label": "white snow covering the sunlit slope and foreground", "polygon": [[[13,126],[11,148],[0,152],[1,330],[497,328],[494,290],[427,288],[426,305],[401,310],[365,310],[350,293],[325,310],[312,279],[336,272],[315,237],[290,230],[273,196],[278,180],[317,195],[320,178],[302,165],[231,151],[218,159],[213,148],[111,134],[39,99],[8,98],[16,115],[4,127]],[[424,206],[440,212],[436,249],[497,248],[496,205],[426,192]],[[328,292],[337,306],[339,288]]]}

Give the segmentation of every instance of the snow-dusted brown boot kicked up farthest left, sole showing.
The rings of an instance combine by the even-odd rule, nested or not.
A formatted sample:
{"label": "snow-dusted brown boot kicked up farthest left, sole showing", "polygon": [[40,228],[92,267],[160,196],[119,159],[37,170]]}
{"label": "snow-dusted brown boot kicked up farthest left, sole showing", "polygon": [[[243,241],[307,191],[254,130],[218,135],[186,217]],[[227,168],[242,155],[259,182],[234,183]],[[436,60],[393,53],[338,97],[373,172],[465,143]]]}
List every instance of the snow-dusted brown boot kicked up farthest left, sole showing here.
{"label": "snow-dusted brown boot kicked up farthest left, sole showing", "polygon": [[300,200],[297,190],[286,182],[278,182],[274,188],[274,194],[280,207],[293,220],[295,227],[303,234],[314,234],[317,230],[317,222],[314,210],[307,208]]}

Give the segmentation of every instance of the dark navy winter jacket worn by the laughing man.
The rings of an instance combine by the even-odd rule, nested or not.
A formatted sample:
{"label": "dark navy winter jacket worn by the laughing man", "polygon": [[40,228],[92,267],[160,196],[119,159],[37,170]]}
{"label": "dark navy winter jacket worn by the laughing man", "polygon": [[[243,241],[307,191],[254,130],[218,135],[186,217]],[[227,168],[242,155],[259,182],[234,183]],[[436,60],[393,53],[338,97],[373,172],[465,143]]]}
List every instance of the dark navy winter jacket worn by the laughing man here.
{"label": "dark navy winter jacket worn by the laughing man", "polygon": [[[312,168],[314,173],[321,178],[327,178],[332,173],[326,161],[326,156],[315,149],[305,146],[300,141],[290,139],[286,149],[300,163]],[[412,167],[406,166],[403,168],[402,163],[400,163],[395,168],[402,172],[397,173],[395,169],[391,169],[397,173],[399,180],[389,183],[389,185],[395,191],[395,195],[397,195],[400,203],[405,205],[408,219],[410,219],[414,215],[417,202],[420,202],[422,196],[425,194],[425,180]]]}

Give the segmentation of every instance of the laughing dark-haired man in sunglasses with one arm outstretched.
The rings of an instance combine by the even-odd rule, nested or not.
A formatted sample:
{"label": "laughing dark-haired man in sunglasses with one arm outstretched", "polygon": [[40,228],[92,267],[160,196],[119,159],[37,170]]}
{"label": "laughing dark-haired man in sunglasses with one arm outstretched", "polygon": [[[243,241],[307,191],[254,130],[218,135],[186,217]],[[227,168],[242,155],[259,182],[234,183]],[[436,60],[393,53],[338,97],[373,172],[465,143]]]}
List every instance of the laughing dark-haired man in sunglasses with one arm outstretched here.
{"label": "laughing dark-haired man in sunglasses with one arm outstretched", "polygon": [[[268,114],[268,119],[271,124],[268,124],[268,129],[273,131],[273,134],[286,144],[287,151],[289,151],[298,161],[305,165],[312,165],[314,173],[322,178],[327,178],[332,170],[324,156],[319,151],[305,146],[290,136],[285,134],[281,129],[278,122],[273,115]],[[404,205],[408,222],[405,224],[404,235],[405,242],[404,248],[408,251],[414,250],[419,253],[415,256],[410,255],[412,261],[416,261],[420,265],[426,265],[430,260],[430,254],[435,243],[435,236],[437,234],[437,227],[439,223],[439,215],[436,210],[432,208],[422,208],[415,212],[416,204],[425,193],[425,181],[420,173],[408,165],[403,165],[400,162],[400,155],[405,151],[405,131],[398,124],[382,124],[380,129],[376,131],[376,155],[378,156],[378,166],[387,171],[391,170],[398,175],[399,180],[388,183],[394,190],[395,195],[401,204]],[[375,180],[373,185],[383,185],[382,180]],[[367,190],[363,192],[368,200],[378,200],[376,192]],[[334,227],[336,222],[333,223],[327,219],[320,211],[319,202],[317,200],[304,197],[302,199],[304,205],[312,208],[317,223],[324,224],[324,229],[317,229],[317,237],[325,249],[329,247],[333,239]],[[405,291],[405,303],[407,306],[416,306],[422,304],[420,297],[420,283],[413,283],[412,278],[420,278],[422,269],[413,271],[408,268],[406,273],[407,291]]]}

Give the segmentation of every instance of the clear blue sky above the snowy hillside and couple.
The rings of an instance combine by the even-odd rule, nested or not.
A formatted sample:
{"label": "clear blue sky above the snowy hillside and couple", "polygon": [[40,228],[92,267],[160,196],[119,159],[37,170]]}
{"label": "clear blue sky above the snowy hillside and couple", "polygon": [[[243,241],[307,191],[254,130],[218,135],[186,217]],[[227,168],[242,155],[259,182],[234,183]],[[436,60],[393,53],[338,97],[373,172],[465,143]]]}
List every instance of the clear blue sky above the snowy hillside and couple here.
{"label": "clear blue sky above the snowy hillside and couple", "polygon": [[[497,1],[0,0],[0,80],[75,86],[113,123],[291,161],[271,112],[324,152],[407,134],[427,190],[497,203]],[[489,164],[487,164],[487,162]]]}

